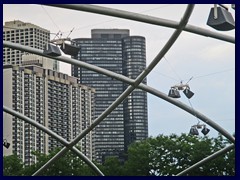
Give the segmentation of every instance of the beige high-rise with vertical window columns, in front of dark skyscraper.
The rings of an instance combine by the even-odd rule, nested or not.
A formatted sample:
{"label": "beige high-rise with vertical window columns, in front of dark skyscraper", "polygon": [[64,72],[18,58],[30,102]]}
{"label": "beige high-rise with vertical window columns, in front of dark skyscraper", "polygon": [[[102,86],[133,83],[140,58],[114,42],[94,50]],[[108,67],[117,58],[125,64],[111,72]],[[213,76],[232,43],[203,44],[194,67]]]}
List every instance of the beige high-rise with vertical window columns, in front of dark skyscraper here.
{"label": "beige high-rise with vertical window columns, in front of dark skyscraper", "polygon": [[[3,70],[4,106],[12,108],[73,140],[94,120],[95,90],[78,79],[39,66],[11,66]],[[63,147],[54,138],[21,119],[4,112],[3,139],[10,143],[4,155],[16,153],[26,165],[36,162],[32,151],[49,153]],[[77,145],[90,159],[94,156],[90,132]]]}

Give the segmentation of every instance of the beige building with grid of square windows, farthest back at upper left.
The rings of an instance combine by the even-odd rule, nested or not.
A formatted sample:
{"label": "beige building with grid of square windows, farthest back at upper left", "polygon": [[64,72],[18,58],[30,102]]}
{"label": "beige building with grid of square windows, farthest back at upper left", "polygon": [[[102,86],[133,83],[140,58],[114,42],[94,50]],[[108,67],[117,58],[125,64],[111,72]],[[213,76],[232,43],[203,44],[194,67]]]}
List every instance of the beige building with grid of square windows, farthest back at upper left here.
{"label": "beige building with grid of square windows, farthest back at upper left", "polygon": [[[36,49],[44,49],[46,43],[50,41],[50,31],[31,23],[19,20],[5,22],[3,26],[3,40]],[[22,55],[28,54],[12,48],[3,48],[3,64],[21,65]],[[59,71],[59,63],[53,63],[53,70]]]}

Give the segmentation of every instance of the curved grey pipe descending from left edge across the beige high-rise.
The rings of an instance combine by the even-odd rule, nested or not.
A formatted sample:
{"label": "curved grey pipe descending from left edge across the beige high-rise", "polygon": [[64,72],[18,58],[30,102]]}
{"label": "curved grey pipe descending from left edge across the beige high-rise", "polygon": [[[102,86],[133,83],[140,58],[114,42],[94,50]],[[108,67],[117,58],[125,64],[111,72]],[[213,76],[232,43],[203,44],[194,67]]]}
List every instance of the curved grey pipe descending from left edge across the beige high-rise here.
{"label": "curved grey pipe descending from left edge across the beige high-rise", "polygon": [[[42,130],[43,132],[47,133],[48,135],[50,135],[51,137],[57,139],[59,142],[61,142],[66,148],[65,151],[62,152],[62,150],[60,152],[58,152],[57,154],[63,154],[66,153],[69,149],[67,148],[69,146],[69,142],[66,141],[64,138],[62,138],[61,136],[59,136],[58,134],[56,134],[55,132],[53,132],[52,130],[46,128],[45,126],[43,126],[42,124],[37,123],[36,121],[30,119],[27,116],[24,116],[23,114],[12,110],[11,108],[8,108],[6,106],[3,106],[3,111],[5,111],[8,114],[11,114],[13,116],[16,116],[20,119],[22,119],[23,121],[33,125],[34,127]],[[91,160],[88,159],[88,157],[86,157],[81,151],[79,151],[76,147],[69,147],[73,152],[75,152],[86,164],[89,165],[90,168],[92,168],[93,171],[95,171],[98,175],[100,176],[104,176],[104,174],[100,171],[100,169],[94,164],[92,163]],[[55,155],[56,156],[56,155]],[[53,157],[55,160],[57,160],[58,158],[55,158],[55,156]],[[60,156],[59,156],[60,157]],[[46,167],[47,168],[47,167]],[[44,166],[44,169],[46,169]],[[39,171],[39,170],[38,170]],[[40,172],[36,171],[33,176],[35,175],[39,175]]]}

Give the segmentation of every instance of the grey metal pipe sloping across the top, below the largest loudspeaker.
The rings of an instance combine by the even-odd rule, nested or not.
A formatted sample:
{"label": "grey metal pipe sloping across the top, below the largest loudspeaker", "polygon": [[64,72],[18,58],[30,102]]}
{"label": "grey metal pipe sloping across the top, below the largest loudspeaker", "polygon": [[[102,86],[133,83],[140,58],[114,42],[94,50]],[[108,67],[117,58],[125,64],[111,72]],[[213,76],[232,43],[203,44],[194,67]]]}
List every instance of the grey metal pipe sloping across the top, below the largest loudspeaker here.
{"label": "grey metal pipe sloping across the top, below the largest loudspeaker", "polygon": [[[59,8],[65,8],[65,9],[72,9],[72,10],[78,10],[78,11],[85,11],[85,12],[91,12],[91,13],[97,13],[97,14],[103,14],[107,16],[114,16],[119,17],[123,19],[130,19],[134,21],[144,22],[148,24],[158,25],[158,26],[165,26],[169,28],[175,28],[177,29],[179,27],[179,23],[172,20],[162,19],[158,17],[143,15],[139,13],[133,13],[129,11],[123,11],[118,10],[114,8],[107,8],[102,6],[96,6],[96,5],[88,5],[88,4],[44,4],[46,6],[53,6],[53,7],[59,7]],[[193,25],[186,25],[183,28],[184,31],[198,34],[201,36],[211,37],[214,39],[230,42],[235,44],[235,38],[220,34],[217,32],[212,32],[210,30],[200,28],[198,26]]]}

